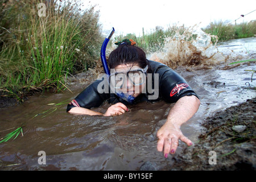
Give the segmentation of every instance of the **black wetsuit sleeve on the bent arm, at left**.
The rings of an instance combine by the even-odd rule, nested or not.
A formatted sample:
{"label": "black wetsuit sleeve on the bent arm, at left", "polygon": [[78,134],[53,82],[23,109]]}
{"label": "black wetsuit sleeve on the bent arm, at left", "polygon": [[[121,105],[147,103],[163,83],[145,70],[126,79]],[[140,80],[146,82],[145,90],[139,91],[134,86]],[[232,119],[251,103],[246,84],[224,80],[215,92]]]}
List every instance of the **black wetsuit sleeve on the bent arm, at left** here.
{"label": "black wetsuit sleeve on the bent arm, at left", "polygon": [[105,100],[108,99],[108,94],[98,93],[97,87],[101,80],[93,82],[86,89],[84,89],[68,106],[67,111],[72,107],[84,107],[90,109],[92,107],[99,107]]}

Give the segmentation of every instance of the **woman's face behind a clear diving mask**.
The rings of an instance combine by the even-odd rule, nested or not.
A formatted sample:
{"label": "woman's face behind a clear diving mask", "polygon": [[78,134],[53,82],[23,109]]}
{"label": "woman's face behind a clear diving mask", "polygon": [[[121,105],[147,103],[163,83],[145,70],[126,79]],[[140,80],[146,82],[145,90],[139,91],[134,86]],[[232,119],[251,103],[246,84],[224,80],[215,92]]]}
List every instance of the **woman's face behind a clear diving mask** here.
{"label": "woman's face behind a clear diving mask", "polygon": [[117,80],[115,84],[118,90],[133,97],[138,97],[142,90],[146,88],[146,73],[141,70],[142,68],[138,64],[121,64],[115,67],[115,80]]}

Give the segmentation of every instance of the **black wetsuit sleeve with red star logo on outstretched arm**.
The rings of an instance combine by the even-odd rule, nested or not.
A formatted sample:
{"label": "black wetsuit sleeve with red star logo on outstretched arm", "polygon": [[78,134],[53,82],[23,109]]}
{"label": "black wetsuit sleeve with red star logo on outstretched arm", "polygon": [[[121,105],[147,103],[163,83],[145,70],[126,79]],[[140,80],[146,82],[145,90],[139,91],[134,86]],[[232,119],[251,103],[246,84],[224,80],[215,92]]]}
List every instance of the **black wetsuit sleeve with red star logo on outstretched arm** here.
{"label": "black wetsuit sleeve with red star logo on outstretched arm", "polygon": [[[160,94],[166,102],[177,102],[179,98],[184,96],[196,96],[196,93],[188,85],[188,83],[172,69],[164,72],[159,80]],[[197,97],[198,98],[198,97]]]}

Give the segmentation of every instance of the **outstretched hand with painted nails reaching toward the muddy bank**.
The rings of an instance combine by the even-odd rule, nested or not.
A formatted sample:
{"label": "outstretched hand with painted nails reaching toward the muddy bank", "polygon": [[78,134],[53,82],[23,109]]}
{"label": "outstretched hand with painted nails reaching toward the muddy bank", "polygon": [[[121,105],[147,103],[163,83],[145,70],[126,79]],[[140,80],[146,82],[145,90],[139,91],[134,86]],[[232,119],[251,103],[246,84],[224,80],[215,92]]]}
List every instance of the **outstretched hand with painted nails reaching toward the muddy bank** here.
{"label": "outstretched hand with painted nails reaching toward the muddy bank", "polygon": [[157,136],[159,138],[157,148],[159,152],[164,148],[164,158],[167,158],[169,153],[175,154],[179,139],[188,146],[192,145],[191,140],[182,134],[179,126],[165,124],[158,130]]}

